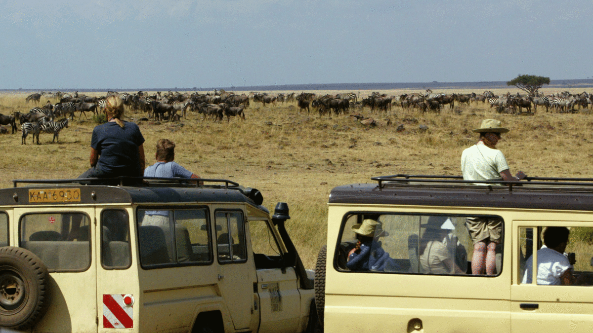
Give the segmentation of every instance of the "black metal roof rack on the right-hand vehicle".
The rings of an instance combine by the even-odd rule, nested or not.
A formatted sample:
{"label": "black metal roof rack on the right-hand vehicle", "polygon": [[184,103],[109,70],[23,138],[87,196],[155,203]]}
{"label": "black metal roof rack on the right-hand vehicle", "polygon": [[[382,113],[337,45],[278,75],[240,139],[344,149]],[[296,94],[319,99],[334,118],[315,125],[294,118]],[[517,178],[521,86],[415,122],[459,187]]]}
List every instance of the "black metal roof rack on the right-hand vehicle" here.
{"label": "black metal roof rack on the right-hand vehicle", "polygon": [[[463,176],[451,175],[388,175],[371,177],[371,180],[377,181],[379,188],[409,184],[413,181],[415,184],[431,184],[439,183],[439,185],[474,185],[476,182],[484,184],[492,190],[492,185],[507,185],[509,191],[513,187],[521,187],[521,189],[540,188],[537,185],[544,187],[585,187],[587,190],[593,190],[593,178],[557,178],[557,177],[525,177],[525,181],[503,181],[503,180],[463,180]],[[528,185],[524,187],[524,185]],[[505,187],[497,187],[505,188]]]}

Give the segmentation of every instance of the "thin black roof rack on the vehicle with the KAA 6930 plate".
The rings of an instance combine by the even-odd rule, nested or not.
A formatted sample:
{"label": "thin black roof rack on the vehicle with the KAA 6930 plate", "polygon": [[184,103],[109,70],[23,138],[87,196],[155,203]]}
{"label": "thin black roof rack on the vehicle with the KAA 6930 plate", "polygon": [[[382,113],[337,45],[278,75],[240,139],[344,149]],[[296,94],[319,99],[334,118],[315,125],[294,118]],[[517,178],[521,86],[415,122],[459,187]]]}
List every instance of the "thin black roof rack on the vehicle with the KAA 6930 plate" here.
{"label": "thin black roof rack on the vehicle with the KAA 6930 plate", "polygon": [[151,187],[170,187],[171,184],[180,184],[186,187],[203,187],[211,186],[209,183],[222,183],[224,188],[238,188],[238,182],[224,180],[224,179],[207,179],[207,178],[162,178],[162,177],[111,177],[111,178],[75,178],[75,179],[59,179],[59,180],[31,180],[31,179],[17,179],[12,180],[12,187],[18,187],[18,184],[78,184],[78,185],[114,185],[125,186],[133,184],[132,186],[151,186]]}

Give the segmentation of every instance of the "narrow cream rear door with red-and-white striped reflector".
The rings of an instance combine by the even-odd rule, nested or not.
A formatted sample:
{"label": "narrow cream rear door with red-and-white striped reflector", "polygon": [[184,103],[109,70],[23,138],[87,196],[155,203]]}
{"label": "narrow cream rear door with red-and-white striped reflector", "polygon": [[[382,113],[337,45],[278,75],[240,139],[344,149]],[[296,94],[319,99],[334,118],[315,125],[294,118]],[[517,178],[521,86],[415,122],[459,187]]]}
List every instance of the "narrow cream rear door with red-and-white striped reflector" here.
{"label": "narrow cream rear door with red-and-white striped reflector", "polygon": [[[136,328],[139,300],[138,270],[132,268],[130,216],[132,210],[101,207],[96,210],[94,250],[97,255],[98,331]],[[136,311],[135,311],[136,310]],[[135,313],[136,312],[136,313]]]}

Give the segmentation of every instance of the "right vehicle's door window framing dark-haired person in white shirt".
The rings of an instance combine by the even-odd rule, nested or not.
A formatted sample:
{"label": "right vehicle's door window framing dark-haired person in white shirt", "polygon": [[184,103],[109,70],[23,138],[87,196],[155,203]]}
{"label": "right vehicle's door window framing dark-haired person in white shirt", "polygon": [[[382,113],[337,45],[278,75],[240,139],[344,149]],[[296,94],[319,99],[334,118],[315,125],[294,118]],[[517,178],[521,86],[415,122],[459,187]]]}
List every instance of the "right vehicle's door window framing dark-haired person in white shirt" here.
{"label": "right vehicle's door window framing dark-haired person in white shirt", "polygon": [[[539,226],[519,228],[521,283],[538,285],[593,284],[593,228]],[[533,245],[537,251],[533,253]],[[534,264],[534,257],[537,264]]]}

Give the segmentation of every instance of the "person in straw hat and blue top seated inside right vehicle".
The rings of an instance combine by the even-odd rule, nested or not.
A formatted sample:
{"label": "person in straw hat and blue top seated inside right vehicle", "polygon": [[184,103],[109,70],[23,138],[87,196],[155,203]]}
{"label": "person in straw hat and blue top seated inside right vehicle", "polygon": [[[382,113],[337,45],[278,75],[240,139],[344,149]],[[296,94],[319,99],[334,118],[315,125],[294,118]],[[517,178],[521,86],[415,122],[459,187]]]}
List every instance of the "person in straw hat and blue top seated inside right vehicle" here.
{"label": "person in straw hat and blue top seated inside right vehicle", "polygon": [[383,271],[385,267],[393,266],[388,252],[382,248],[381,236],[388,236],[382,228],[381,222],[365,219],[362,223],[352,226],[356,233],[355,247],[348,253],[346,267],[353,271]]}

